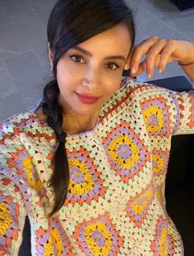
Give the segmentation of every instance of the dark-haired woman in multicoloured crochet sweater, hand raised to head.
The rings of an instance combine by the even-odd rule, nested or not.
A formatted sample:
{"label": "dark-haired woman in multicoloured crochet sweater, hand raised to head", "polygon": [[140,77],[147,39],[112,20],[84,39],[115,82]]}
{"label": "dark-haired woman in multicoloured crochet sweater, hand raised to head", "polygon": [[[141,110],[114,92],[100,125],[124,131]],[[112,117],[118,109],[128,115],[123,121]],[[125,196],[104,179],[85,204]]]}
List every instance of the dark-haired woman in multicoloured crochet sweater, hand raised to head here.
{"label": "dark-haired woman in multicoloured crochet sweater, hand raised to head", "polygon": [[54,80],[35,112],[1,124],[1,255],[17,255],[26,215],[32,255],[183,255],[164,181],[172,135],[194,132],[193,96],[122,72],[151,77],[175,60],[194,80],[194,46],[134,41],[121,0],[54,5]]}

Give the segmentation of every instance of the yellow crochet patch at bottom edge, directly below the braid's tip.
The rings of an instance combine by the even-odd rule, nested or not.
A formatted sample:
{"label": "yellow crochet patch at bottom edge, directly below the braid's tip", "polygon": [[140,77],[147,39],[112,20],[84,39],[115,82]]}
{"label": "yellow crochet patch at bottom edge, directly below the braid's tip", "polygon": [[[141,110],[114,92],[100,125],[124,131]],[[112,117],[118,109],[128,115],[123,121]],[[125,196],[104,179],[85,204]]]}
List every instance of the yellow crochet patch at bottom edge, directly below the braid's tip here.
{"label": "yellow crochet patch at bottom edge, directly below the braid's tip", "polygon": [[57,229],[52,229],[50,239],[49,239],[48,243],[46,243],[44,245],[44,248],[45,248],[44,256],[55,256],[54,255],[54,244],[56,244],[55,250],[57,251],[57,256],[62,256],[64,246],[62,244],[62,241],[60,239]]}

